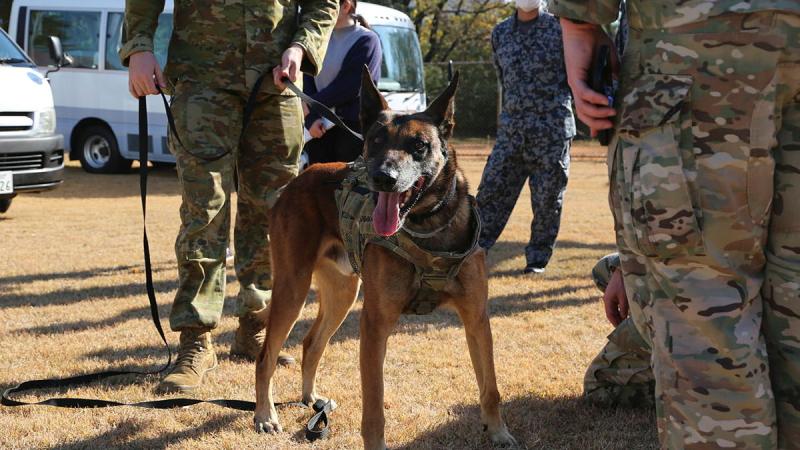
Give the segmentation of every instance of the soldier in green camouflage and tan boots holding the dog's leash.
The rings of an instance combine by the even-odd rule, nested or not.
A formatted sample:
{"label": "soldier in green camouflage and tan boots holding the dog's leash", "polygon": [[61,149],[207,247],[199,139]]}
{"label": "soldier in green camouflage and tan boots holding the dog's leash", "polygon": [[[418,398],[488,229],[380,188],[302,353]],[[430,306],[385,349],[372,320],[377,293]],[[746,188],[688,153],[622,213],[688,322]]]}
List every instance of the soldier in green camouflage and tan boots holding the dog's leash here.
{"label": "soldier in green camouflage and tan boots holding the dog's leash", "polygon": [[[239,328],[231,353],[255,358],[261,349],[263,328],[252,313],[267,306],[272,288],[267,210],[297,175],[303,142],[300,100],[280,80],[298,80],[299,70],[319,72],[338,4],[178,0],[166,76],[152,54],[163,8],[164,0],[127,0],[120,56],[130,64],[134,96],[156,93],[154,76],[172,94],[177,136],[171,133],[169,143],[182,204],[170,326],[181,338],[176,366],[160,388],[186,391],[216,366],[210,330],[222,314],[230,194],[237,178]],[[245,129],[245,103],[261,74],[269,80]]]}

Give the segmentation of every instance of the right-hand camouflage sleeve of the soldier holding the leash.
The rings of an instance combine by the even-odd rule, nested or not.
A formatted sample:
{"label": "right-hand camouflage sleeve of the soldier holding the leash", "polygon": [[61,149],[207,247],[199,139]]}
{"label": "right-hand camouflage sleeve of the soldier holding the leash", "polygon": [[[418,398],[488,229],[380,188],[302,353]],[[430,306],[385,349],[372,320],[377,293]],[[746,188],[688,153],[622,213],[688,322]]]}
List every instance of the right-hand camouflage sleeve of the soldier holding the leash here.
{"label": "right-hand camouflage sleeve of the soldier holding the leash", "polygon": [[300,0],[300,24],[292,43],[302,47],[305,53],[301,71],[319,75],[338,13],[337,0]]}

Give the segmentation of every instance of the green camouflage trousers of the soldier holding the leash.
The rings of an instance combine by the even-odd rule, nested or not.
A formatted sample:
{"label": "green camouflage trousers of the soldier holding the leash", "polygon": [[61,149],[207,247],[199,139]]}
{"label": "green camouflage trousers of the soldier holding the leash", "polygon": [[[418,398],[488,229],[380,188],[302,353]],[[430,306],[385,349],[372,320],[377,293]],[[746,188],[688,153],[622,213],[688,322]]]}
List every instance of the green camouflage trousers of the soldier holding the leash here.
{"label": "green camouflage trousers of the soldier holding the leash", "polygon": [[[219,323],[234,188],[237,314],[263,309],[270,300],[267,211],[298,173],[303,113],[297,97],[262,94],[242,135],[248,95],[181,82],[172,96],[181,143],[174,136],[169,142],[177,159],[182,198],[175,242],[179,286],[170,313],[174,331],[214,328]],[[228,154],[207,161],[187,150],[206,157]]]}

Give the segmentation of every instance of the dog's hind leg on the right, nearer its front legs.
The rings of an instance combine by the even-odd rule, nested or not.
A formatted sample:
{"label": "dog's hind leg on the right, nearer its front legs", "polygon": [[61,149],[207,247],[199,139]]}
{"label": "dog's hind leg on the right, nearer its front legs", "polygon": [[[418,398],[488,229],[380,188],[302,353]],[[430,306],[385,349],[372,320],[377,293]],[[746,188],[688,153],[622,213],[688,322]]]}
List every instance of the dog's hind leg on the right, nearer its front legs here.
{"label": "dog's hind leg on the right, nearer its front legs", "polygon": [[[346,268],[349,267],[347,264]],[[317,367],[331,336],[353,306],[360,284],[355,274],[345,275],[336,262],[324,257],[320,258],[314,278],[319,289],[319,312],[303,339],[303,402],[306,404],[322,398],[316,392]]]}

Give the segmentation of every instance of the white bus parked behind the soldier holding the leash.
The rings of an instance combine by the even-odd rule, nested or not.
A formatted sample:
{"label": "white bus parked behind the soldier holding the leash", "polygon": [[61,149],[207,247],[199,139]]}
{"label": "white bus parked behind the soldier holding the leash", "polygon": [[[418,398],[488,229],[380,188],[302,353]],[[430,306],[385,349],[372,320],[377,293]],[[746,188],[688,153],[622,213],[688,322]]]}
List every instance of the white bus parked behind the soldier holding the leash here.
{"label": "white bus parked behind the soldier holding the leash", "polygon": [[[49,36],[58,36],[73,63],[50,76],[58,117],[58,133],[70,159],[95,173],[124,172],[138,158],[138,102],[128,93],[127,69],[120,63],[124,0],[14,0],[9,34],[40,70],[52,64]],[[172,34],[173,0],[166,0],[154,46],[162,67]],[[400,11],[360,3],[364,16],[381,40],[383,64],[378,88],[392,109],[425,107],[422,54],[414,25]],[[147,101],[150,159],[174,163],[167,149],[167,120],[161,99]]]}

